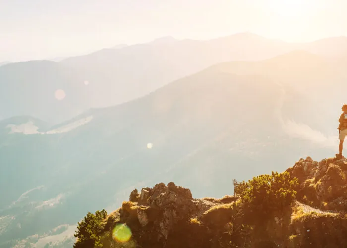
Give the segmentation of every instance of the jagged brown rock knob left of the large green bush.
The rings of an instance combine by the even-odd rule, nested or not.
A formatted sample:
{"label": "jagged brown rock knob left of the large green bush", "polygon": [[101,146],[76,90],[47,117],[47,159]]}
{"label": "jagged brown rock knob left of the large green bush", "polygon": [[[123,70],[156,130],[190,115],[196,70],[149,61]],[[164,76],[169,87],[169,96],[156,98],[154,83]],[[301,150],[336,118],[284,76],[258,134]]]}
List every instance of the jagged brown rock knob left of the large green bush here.
{"label": "jagged brown rock knob left of the large green bush", "polygon": [[[202,216],[211,206],[223,205],[221,202],[194,200],[189,189],[176,186],[173,182],[167,186],[159,183],[153,188],[142,188],[139,196],[136,193],[137,190],[131,192],[130,199],[138,199],[138,203],[123,203],[123,212],[126,216],[132,217],[136,209],[136,221],[142,228],[137,233],[138,239],[159,242],[162,244],[161,247],[164,247],[179,223],[189,223],[190,218]],[[127,220],[130,225],[136,223],[133,222],[133,218]]]}

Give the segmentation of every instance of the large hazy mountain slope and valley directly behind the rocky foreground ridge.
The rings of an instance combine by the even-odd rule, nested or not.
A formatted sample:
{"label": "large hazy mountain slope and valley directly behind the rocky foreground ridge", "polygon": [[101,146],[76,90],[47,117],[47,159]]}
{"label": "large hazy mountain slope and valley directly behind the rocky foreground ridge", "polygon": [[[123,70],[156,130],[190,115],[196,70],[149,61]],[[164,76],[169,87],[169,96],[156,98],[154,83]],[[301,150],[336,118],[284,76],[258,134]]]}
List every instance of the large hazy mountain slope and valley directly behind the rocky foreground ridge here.
{"label": "large hazy mountain slope and valley directly behind the rocky foreground ridge", "polygon": [[[70,69],[35,63],[45,64],[48,75]],[[282,171],[307,154],[316,160],[331,156],[345,65],[344,58],[306,51],[223,62],[54,126],[30,116],[4,120],[0,226],[6,228],[0,229],[0,247],[20,240],[42,244],[49,230],[74,225],[88,211],[114,210],[134,187],[174,181],[195,197],[222,197],[231,192],[231,178]],[[29,75],[40,74],[38,68]],[[68,78],[71,92],[82,94],[86,85]],[[49,107],[47,99],[41,105],[46,101]],[[69,101],[66,109],[79,103]],[[20,133],[28,123],[36,134]]]}

